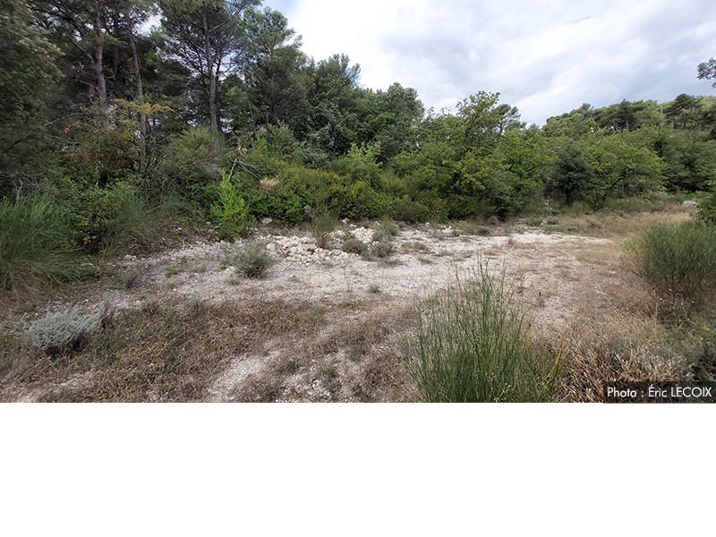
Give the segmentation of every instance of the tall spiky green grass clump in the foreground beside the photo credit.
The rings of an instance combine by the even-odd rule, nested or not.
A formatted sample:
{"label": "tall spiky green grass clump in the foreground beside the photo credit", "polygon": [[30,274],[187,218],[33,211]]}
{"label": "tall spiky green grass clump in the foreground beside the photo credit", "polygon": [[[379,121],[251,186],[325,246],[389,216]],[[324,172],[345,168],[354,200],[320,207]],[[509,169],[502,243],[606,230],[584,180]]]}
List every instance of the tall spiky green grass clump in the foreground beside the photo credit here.
{"label": "tall spiky green grass clump in the foreground beside the photo credit", "polygon": [[558,357],[533,348],[513,288],[480,268],[419,310],[413,377],[428,402],[538,402],[555,392]]}

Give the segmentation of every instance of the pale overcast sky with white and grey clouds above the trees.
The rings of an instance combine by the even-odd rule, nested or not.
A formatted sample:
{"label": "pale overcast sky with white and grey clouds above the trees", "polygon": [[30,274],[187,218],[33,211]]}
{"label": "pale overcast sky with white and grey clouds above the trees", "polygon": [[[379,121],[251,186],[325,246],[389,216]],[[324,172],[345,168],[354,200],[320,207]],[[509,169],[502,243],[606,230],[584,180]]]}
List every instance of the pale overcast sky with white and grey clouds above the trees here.
{"label": "pale overcast sky with white and grey clouds above the trees", "polygon": [[582,103],[714,95],[714,0],[265,0],[316,61],[346,54],[361,83],[414,88],[426,108],[480,90],[542,125]]}

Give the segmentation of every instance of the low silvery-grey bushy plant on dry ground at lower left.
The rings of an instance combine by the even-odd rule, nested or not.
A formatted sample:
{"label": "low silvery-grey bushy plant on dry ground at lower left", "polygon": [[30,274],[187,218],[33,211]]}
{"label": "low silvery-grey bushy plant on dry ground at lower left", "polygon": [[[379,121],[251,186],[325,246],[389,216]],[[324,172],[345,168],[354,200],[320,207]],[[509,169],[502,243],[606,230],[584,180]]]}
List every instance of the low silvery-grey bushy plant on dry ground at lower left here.
{"label": "low silvery-grey bushy plant on dry ground at lower left", "polygon": [[27,334],[32,345],[49,354],[58,354],[85,345],[99,323],[97,315],[83,316],[79,306],[55,313],[48,309],[45,317],[30,324]]}

